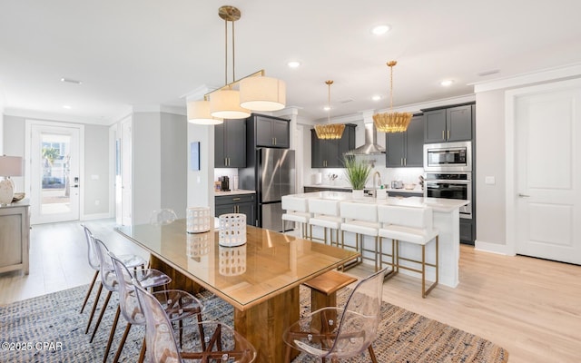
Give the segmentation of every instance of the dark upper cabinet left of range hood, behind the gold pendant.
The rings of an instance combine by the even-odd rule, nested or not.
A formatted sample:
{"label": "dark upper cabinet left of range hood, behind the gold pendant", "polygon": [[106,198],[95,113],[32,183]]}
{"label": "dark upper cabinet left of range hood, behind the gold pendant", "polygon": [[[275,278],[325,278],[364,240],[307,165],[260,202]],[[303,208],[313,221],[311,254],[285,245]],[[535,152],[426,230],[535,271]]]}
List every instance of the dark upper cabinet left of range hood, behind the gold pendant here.
{"label": "dark upper cabinet left of range hood, behind the gold pendant", "polygon": [[310,130],[310,167],[342,168],[343,154],[355,149],[354,123],[346,123],[339,140],[320,140],[315,129]]}

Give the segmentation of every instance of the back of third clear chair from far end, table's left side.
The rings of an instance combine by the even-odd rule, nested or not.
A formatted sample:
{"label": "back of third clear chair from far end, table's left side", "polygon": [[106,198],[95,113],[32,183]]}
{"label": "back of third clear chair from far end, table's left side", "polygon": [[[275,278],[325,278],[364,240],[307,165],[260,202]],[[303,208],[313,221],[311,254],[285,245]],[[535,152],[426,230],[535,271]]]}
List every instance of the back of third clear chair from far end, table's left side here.
{"label": "back of third clear chair from far end, table's left side", "polygon": [[[113,269],[118,282],[119,308],[123,318],[134,325],[145,325],[143,311],[139,306],[135,296],[135,287],[133,286],[133,274],[131,270],[119,260],[113,252],[109,251],[109,257],[113,261]],[[135,280],[137,281],[137,280]],[[139,283],[139,281],[137,281]]]}

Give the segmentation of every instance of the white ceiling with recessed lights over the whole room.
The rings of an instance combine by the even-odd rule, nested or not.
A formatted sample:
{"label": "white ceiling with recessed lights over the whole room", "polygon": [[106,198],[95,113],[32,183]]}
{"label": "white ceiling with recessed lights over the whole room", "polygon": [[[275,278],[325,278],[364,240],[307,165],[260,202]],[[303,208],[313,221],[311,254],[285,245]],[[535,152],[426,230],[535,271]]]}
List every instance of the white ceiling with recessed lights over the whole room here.
{"label": "white ceiling with recessed lights over the whole room", "polygon": [[[578,0],[0,0],[0,107],[103,124],[131,107],[184,110],[225,83],[221,5],[241,10],[236,78],[283,79],[287,105],[312,120],[327,117],[328,79],[333,116],[389,107],[389,60],[394,106],[581,62]],[[391,31],[371,34],[380,24]]]}

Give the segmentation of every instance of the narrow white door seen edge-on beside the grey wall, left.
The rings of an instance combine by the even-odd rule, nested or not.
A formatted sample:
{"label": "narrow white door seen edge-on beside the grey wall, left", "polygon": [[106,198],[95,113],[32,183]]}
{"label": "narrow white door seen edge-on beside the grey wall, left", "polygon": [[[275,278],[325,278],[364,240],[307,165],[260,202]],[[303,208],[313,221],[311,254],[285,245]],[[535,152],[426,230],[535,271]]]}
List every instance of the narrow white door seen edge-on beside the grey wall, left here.
{"label": "narrow white door seen edge-on beside the grey wall, left", "polygon": [[125,226],[132,224],[133,210],[132,173],[132,120],[121,123],[121,214]]}

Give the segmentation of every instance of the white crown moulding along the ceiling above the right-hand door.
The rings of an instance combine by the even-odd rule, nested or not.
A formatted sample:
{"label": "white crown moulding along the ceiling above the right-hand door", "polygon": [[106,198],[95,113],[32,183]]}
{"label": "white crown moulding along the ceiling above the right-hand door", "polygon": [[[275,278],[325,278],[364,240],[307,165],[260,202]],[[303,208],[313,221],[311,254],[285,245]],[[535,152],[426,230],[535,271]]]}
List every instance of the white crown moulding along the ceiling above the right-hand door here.
{"label": "white crown moulding along the ceiling above the right-hand door", "polygon": [[566,64],[560,67],[547,68],[537,72],[527,74],[518,74],[513,77],[499,78],[492,81],[470,83],[474,85],[474,92],[488,92],[510,87],[517,87],[521,85],[548,82],[556,79],[563,79],[568,77],[576,77],[581,75],[581,63]]}

